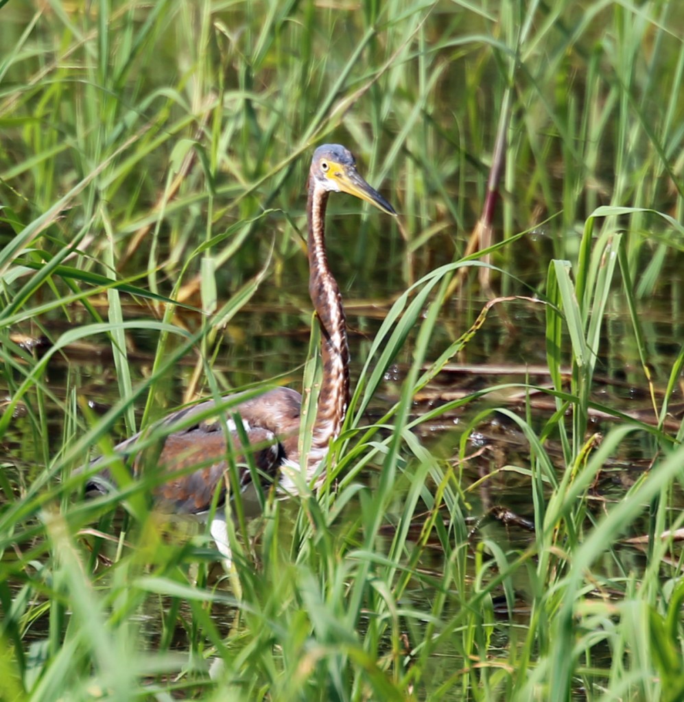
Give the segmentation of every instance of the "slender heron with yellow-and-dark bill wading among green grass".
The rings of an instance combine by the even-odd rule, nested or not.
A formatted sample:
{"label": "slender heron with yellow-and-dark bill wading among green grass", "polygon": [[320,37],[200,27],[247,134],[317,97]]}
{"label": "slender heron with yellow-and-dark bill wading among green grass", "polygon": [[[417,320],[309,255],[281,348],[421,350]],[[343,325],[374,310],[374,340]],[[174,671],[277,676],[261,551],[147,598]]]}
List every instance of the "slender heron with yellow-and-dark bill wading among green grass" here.
{"label": "slender heron with yellow-and-dark bill wading among green grass", "polygon": [[[239,395],[223,397],[219,404],[209,400],[174,412],[161,422],[165,427],[183,423],[185,428],[172,431],[162,439],[155,465],[162,472],[164,482],[154,490],[155,503],[164,511],[202,517],[211,510],[214,495],[219,491],[218,509],[211,520],[210,531],[226,561],[230,561],[231,555],[225,509],[221,505],[226,495],[229,451],[233,452],[239,466],[243,489],[251,482],[251,473],[244,456],[236,455],[241,451],[246,453],[246,447],[242,446],[234,420],[211,417],[211,410],[216,406],[218,413],[230,405],[230,412],[239,414],[256,468],[273,478],[279,472],[282,491],[297,491],[299,481],[291,474],[293,470],[302,471],[308,484],[314,477],[317,482],[323,479],[319,468],[330,442],[339,435],[350,397],[344,308],[325,249],[328,196],[331,192],[346,192],[388,214],[396,214],[388,201],[357,173],[353,155],[340,145],[327,144],[315,150],[307,187],[309,294],[321,329],[323,373],[306,465],[301,465],[298,451],[301,395],[290,388],[268,390],[242,401]],[[195,416],[197,422],[192,421]],[[136,434],[126,439],[114,452],[124,458],[138,453],[136,443],[140,438],[141,435]],[[96,459],[96,463],[100,460]],[[145,458],[141,458],[140,453],[133,458],[134,473],[140,470],[143,461]],[[197,470],[192,471],[193,466],[197,466]],[[86,492],[106,493],[111,483],[110,472],[103,470],[88,479]]]}

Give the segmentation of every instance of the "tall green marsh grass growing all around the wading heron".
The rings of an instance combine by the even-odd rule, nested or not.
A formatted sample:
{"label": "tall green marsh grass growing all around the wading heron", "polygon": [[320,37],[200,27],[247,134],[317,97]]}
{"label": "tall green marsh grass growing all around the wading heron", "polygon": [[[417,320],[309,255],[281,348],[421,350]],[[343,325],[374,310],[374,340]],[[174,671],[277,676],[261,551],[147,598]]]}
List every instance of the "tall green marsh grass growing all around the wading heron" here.
{"label": "tall green marsh grass growing all around the wading heron", "polygon": [[[0,1],[0,697],[681,699],[682,20],[673,1]],[[462,259],[509,101],[496,243]],[[112,446],[166,406],[298,382],[305,343],[261,362],[246,310],[315,327],[303,182],[325,141],[401,213],[331,199],[344,296],[392,304],[379,325],[352,319],[372,333],[329,481],[258,494],[252,521],[236,495],[225,578],[202,529],[178,538],[150,514],[155,476],[127,483]],[[475,280],[485,254],[511,336],[535,333],[525,298],[544,305],[550,383],[416,416],[503,309]],[[41,336],[47,350],[22,340]],[[59,366],[93,340],[112,364]],[[597,395],[597,369],[645,390],[650,416]],[[522,404],[502,404],[511,390]],[[419,430],[456,412],[444,458]],[[469,479],[492,417],[525,461]],[[650,470],[603,498],[632,437]],[[94,453],[121,490],[79,501]],[[522,546],[470,521],[508,475],[529,495]]]}

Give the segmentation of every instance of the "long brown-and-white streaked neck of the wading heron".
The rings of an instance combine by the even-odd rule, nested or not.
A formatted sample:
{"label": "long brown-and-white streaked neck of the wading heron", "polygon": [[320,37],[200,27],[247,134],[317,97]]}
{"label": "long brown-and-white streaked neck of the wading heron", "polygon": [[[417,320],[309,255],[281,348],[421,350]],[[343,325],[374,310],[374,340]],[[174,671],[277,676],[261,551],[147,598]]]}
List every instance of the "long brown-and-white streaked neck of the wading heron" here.
{"label": "long brown-and-white streaked neck of the wading heron", "polygon": [[323,379],[306,472],[310,478],[339,435],[349,404],[349,345],[342,297],[325,252],[328,192],[310,179],[306,213],[309,225],[309,294],[321,327]]}

